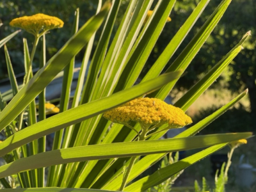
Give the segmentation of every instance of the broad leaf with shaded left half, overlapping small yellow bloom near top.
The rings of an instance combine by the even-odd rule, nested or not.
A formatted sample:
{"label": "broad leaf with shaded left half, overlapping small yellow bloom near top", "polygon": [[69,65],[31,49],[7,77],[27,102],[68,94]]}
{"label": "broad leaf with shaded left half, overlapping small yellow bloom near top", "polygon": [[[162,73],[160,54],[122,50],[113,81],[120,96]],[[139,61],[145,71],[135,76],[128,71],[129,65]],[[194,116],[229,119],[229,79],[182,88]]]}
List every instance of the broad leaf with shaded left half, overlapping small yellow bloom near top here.
{"label": "broad leaf with shaded left half, overlapping small yellow bloom near top", "polygon": [[[127,58],[127,64],[125,65],[120,81],[118,82],[115,92],[124,88],[129,88],[135,83],[136,79],[140,75],[140,72],[148,60],[148,56],[156,41],[164,28],[166,19],[170,15],[175,0],[162,1],[159,6],[154,9],[152,14],[152,20],[147,26],[147,29],[141,32],[140,36]],[[159,74],[157,74],[158,76]]]}

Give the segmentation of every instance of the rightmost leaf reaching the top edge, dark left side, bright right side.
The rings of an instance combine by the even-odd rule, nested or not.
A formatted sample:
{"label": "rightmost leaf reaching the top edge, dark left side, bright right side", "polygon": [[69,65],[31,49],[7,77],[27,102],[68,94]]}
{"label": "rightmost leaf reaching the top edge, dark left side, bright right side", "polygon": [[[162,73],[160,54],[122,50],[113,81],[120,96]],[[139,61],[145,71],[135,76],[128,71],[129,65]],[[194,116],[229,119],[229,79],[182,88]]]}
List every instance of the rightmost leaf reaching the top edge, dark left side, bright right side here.
{"label": "rightmost leaf reaching the top edge, dark left side, bright right side", "polygon": [[[200,50],[202,45],[204,45],[205,40],[207,40],[212,30],[220,21],[221,17],[223,16],[223,13],[225,13],[225,11],[227,10],[230,2],[231,0],[221,1],[220,5],[212,13],[209,19],[207,19],[204,26],[200,28],[198,33],[196,33],[194,38],[191,40],[191,42],[189,42],[189,44],[180,53],[180,55],[176,58],[176,60],[173,61],[172,65],[168,68],[168,70],[166,70],[166,72],[175,71],[180,68],[182,68],[182,70],[185,70],[188,67],[188,65],[196,56],[197,52]],[[164,99],[168,95],[170,90],[172,90],[175,83],[176,82],[167,84],[166,86],[161,88],[161,90],[159,90],[157,93],[153,93],[152,95],[150,95],[150,97],[157,97],[159,99]]]}

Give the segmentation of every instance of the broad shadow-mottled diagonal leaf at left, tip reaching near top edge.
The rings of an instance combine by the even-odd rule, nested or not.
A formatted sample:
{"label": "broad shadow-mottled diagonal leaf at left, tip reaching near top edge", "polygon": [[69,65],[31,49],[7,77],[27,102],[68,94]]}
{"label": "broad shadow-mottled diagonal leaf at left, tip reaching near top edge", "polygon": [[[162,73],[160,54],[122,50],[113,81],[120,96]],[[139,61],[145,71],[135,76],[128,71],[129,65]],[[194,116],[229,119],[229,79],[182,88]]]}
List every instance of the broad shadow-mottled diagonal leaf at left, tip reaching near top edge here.
{"label": "broad shadow-mottled diagonal leaf at left, tip reaching near top edge", "polygon": [[35,76],[20,90],[11,102],[4,108],[0,114],[0,129],[4,129],[16,116],[18,116],[28,104],[35,99],[38,93],[49,84],[52,79],[67,65],[67,63],[86,45],[93,33],[99,28],[103,22],[105,15],[108,13],[111,4],[104,6],[101,12],[92,19],[88,20],[86,24],[68,40],[67,44],[60,49],[47,62],[47,64],[40,69]]}

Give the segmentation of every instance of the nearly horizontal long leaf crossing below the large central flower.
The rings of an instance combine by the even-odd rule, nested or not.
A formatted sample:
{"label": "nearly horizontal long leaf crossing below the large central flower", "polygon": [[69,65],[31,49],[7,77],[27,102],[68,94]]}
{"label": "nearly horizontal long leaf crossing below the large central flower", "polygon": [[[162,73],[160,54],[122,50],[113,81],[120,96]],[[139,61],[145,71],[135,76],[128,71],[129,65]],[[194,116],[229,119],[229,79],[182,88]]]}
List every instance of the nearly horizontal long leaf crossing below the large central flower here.
{"label": "nearly horizontal long leaf crossing below the large central flower", "polygon": [[[189,138],[111,143],[52,150],[25,157],[0,167],[0,178],[14,173],[50,166],[53,164],[91,161],[115,157],[145,156],[148,154],[174,152],[194,148],[209,147],[252,136],[252,132],[211,134]],[[47,161],[45,161],[47,159]]]}

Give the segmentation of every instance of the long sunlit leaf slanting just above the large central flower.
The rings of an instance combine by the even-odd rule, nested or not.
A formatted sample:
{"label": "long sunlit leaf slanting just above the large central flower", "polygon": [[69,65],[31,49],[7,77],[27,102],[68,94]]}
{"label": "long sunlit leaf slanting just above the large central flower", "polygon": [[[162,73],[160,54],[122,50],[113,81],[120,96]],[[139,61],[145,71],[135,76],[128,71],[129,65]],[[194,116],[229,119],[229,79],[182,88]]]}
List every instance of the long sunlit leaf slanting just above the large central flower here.
{"label": "long sunlit leaf slanting just above the large central flower", "polygon": [[64,127],[68,127],[69,125],[76,124],[77,122],[81,122],[91,118],[92,116],[99,115],[104,111],[114,108],[115,106],[124,104],[125,102],[136,97],[140,97],[141,95],[151,92],[152,90],[156,90],[164,84],[179,77],[180,73],[181,72],[179,71],[164,74],[156,79],[138,84],[122,92],[115,93],[109,97],[95,100],[93,102],[78,106],[77,108],[63,111],[63,113],[59,113],[58,115],[54,115],[51,118],[38,122],[37,124],[26,127],[26,129],[22,129],[21,131],[10,136],[3,143],[0,143],[0,154],[3,156],[4,154],[11,152],[14,148],[20,147],[29,141],[33,141]]}

